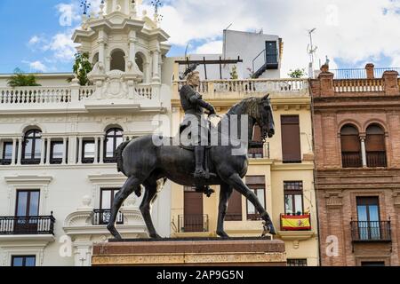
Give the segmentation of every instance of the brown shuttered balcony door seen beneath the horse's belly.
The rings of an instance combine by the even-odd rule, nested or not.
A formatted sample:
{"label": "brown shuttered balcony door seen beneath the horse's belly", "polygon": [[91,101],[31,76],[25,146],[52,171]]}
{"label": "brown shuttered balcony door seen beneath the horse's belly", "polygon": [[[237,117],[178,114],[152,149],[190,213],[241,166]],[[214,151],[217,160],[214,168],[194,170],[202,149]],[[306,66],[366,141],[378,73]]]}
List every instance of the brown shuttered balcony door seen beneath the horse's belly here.
{"label": "brown shuttered balcony door seen beneath the horse's belly", "polygon": [[196,193],[196,189],[185,187],[184,191],[183,225],[185,232],[203,232],[203,193]]}

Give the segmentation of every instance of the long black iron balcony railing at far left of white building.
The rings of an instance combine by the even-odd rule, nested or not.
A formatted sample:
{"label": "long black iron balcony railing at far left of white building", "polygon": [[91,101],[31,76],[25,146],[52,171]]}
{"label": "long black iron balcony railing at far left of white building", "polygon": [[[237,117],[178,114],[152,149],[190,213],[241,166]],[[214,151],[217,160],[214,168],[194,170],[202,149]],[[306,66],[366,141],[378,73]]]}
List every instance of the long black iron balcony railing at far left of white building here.
{"label": "long black iron balcony railing at far left of white building", "polygon": [[1,234],[54,234],[51,216],[0,217]]}

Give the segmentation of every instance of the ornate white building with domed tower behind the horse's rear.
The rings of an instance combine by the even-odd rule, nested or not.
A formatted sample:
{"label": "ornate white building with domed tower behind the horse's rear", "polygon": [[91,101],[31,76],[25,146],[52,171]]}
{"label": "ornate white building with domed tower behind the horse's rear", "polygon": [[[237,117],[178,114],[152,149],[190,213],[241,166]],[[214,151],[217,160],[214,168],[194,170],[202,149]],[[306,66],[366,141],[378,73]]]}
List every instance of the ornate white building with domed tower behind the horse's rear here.
{"label": "ornate white building with domed tower behind the horse's rear", "polygon": [[[90,265],[107,240],[109,208],[125,177],[116,146],[152,133],[171,110],[168,35],[138,14],[141,1],[107,0],[73,40],[89,53],[93,86],[40,75],[41,87],[5,87],[0,77],[0,264]],[[167,62],[167,63],[163,63]],[[171,185],[153,209],[170,235]],[[127,238],[147,236],[131,197],[118,217]]]}

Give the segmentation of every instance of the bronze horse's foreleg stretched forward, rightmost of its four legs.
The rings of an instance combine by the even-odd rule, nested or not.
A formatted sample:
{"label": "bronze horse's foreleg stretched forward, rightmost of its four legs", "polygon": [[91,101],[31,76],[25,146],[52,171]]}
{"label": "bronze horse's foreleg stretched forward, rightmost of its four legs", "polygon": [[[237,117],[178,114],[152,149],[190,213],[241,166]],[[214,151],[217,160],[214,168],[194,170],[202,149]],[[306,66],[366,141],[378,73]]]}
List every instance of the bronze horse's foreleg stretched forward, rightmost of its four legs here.
{"label": "bronze horse's foreleg stretched forward, rightmost of its four legs", "polygon": [[264,207],[262,207],[257,195],[253,193],[249,187],[247,187],[247,185],[244,184],[242,178],[235,173],[230,175],[228,178],[224,178],[224,181],[236,189],[236,191],[242,193],[242,195],[252,202],[252,205],[254,205],[255,209],[257,209],[257,211],[260,213],[261,218],[265,221],[266,226],[269,229],[269,233],[276,234],[274,225],[272,224],[268,212],[264,209]]}

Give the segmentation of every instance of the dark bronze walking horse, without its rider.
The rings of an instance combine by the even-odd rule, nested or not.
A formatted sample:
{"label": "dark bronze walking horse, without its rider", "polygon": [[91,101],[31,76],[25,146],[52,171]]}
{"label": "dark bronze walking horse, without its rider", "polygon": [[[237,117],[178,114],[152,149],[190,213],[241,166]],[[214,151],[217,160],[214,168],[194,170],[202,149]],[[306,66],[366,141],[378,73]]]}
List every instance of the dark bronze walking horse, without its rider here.
{"label": "dark bronze walking horse, without its rider", "polygon": [[[269,96],[269,95],[268,95]],[[268,96],[263,98],[247,98],[230,108],[216,126],[221,139],[223,122],[241,125],[247,122],[247,137],[240,140],[240,146],[229,143],[228,146],[210,146],[209,157],[211,170],[215,172],[209,179],[204,179],[204,185],[220,185],[220,204],[218,210],[217,234],[222,238],[228,238],[224,231],[224,219],[228,208],[228,200],[233,190],[243,194],[252,202],[255,209],[264,220],[265,231],[276,234],[274,225],[261,205],[257,196],[244,184],[242,178],[247,173],[248,158],[247,150],[251,144],[254,125],[257,123],[261,128],[263,140],[271,138],[275,134],[274,118],[272,107]],[[245,118],[245,121],[244,121]],[[246,125],[244,125],[246,126]],[[238,130],[241,132],[240,128]],[[238,133],[241,137],[241,133]],[[170,138],[172,139],[172,138]],[[134,138],[125,141],[116,151],[118,170],[122,171],[128,179],[121,190],[116,193],[111,209],[111,216],[108,223],[108,231],[116,238],[122,239],[116,230],[116,216],[125,199],[135,192],[141,194],[141,186],[144,186],[144,196],[140,204],[140,212],[148,228],[150,238],[161,238],[153,225],[150,209],[156,200],[160,180],[164,182],[169,179],[174,183],[186,186],[198,185],[198,180],[193,177],[195,170],[194,152],[182,146],[156,146],[153,143],[153,135]],[[238,147],[244,147],[242,154],[232,154]]]}

